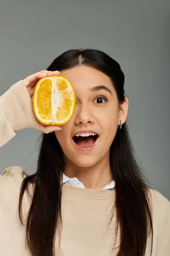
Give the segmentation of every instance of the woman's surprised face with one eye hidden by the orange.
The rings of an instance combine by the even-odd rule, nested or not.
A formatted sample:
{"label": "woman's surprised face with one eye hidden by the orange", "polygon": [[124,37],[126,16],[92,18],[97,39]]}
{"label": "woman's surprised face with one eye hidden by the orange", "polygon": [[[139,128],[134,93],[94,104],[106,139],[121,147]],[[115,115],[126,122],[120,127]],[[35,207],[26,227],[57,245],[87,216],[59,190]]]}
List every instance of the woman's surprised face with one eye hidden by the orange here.
{"label": "woman's surprised face with one eye hidden by the orange", "polygon": [[71,81],[77,105],[71,120],[55,132],[57,140],[71,163],[94,166],[109,157],[119,121],[127,116],[127,99],[120,111],[110,78],[94,68],[80,65],[60,74]]}

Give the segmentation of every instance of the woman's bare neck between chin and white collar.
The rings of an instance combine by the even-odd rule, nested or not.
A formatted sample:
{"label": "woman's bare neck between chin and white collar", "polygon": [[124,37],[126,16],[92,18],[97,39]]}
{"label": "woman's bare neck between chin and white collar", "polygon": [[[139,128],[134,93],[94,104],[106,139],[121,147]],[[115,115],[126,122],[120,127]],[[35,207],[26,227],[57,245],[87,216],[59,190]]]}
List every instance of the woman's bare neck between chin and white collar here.
{"label": "woman's bare neck between chin and white collar", "polygon": [[77,166],[66,159],[64,174],[70,178],[77,177],[86,189],[102,189],[113,180],[109,153],[99,163],[89,167]]}

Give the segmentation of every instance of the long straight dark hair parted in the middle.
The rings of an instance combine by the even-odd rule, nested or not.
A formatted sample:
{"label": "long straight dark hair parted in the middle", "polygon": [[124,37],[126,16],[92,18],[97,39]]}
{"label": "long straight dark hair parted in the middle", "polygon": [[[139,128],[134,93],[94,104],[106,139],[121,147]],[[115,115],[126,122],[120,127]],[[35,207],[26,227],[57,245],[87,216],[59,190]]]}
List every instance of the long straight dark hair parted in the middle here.
{"label": "long straight dark hair parted in the middle", "polygon": [[[120,65],[109,55],[96,49],[72,49],[57,57],[48,70],[65,70],[84,64],[110,77],[119,105],[125,101],[125,76]],[[42,134],[37,172],[27,175],[20,190],[22,200],[30,184],[34,185],[26,224],[26,242],[33,256],[54,256],[55,237],[60,241],[62,216],[61,198],[64,161],[62,149],[54,133]],[[147,239],[153,243],[150,195],[142,169],[136,161],[126,122],[118,130],[110,148],[110,167],[116,181],[117,231],[120,246],[117,256],[144,256]]]}

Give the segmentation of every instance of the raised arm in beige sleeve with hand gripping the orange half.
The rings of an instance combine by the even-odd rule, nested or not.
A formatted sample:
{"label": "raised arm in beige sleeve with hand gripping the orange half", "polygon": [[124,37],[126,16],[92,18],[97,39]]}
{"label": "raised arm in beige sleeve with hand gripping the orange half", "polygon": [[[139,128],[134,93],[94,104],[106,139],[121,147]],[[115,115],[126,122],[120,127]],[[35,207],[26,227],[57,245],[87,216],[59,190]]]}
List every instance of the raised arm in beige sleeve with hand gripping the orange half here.
{"label": "raised arm in beige sleeve with hand gripping the orange half", "polygon": [[59,71],[35,73],[14,84],[0,97],[0,147],[15,136],[15,131],[35,128],[49,133],[61,129],[59,126],[44,126],[34,115],[32,97],[37,81],[44,76],[58,75]]}

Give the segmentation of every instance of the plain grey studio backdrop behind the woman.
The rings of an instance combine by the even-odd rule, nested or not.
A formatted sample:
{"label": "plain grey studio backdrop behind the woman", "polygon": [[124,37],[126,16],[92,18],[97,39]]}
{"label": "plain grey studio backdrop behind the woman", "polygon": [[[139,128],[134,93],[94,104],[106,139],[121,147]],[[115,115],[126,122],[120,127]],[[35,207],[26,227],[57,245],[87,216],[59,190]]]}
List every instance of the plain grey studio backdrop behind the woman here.
{"label": "plain grey studio backdrop behind the woman", "polygon": [[[151,186],[170,199],[170,1],[0,0],[0,95],[71,48],[101,49],[121,65],[128,125]],[[39,131],[0,148],[8,166],[35,170]]]}

